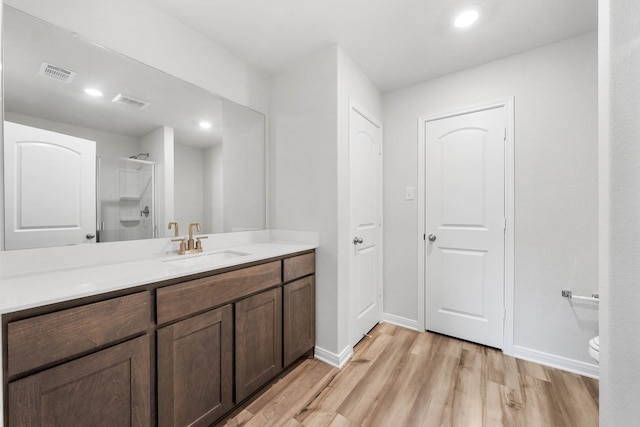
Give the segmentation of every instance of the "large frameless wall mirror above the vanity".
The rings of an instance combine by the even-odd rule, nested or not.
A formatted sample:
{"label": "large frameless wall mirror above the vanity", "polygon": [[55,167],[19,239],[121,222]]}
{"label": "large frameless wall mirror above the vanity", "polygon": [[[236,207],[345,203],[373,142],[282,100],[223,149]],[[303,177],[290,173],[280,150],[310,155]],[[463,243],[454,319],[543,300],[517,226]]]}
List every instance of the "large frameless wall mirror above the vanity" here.
{"label": "large frameless wall mirror above the vanity", "polygon": [[2,30],[6,249],[266,228],[262,114],[8,6]]}

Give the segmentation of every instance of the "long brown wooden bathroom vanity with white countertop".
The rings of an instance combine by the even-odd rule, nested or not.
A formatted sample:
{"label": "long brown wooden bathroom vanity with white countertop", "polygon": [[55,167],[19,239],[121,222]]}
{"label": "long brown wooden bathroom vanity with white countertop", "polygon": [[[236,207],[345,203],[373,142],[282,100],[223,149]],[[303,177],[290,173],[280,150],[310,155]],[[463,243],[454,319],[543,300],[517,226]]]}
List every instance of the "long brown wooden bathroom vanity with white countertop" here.
{"label": "long brown wooden bathroom vanity with white countertop", "polygon": [[[5,425],[218,420],[313,354],[315,250],[268,243],[244,253],[260,252],[216,268],[197,257],[100,266],[87,271],[155,262],[164,278],[126,286],[121,273],[118,289],[4,313]],[[78,272],[52,277],[65,273],[82,285]]]}

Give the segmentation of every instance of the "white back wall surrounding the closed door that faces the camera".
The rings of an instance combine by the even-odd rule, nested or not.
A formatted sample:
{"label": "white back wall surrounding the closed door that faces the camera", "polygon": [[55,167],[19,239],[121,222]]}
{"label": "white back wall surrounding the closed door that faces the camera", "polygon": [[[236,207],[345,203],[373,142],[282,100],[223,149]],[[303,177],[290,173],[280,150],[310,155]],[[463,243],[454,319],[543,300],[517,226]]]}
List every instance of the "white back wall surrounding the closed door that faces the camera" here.
{"label": "white back wall surrounding the closed door that faces the camera", "polygon": [[[598,290],[597,36],[588,34],[384,95],[385,313],[418,319],[417,118],[515,97],[516,354],[592,369]],[[564,361],[562,358],[567,358]]]}

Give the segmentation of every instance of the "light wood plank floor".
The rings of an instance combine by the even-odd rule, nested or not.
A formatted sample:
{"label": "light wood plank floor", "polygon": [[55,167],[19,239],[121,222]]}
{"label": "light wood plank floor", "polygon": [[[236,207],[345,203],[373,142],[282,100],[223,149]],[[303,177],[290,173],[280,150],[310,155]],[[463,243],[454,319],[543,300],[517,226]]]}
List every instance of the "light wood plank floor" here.
{"label": "light wood plank floor", "polygon": [[383,323],[338,370],[308,359],[220,425],[598,425],[598,381]]}

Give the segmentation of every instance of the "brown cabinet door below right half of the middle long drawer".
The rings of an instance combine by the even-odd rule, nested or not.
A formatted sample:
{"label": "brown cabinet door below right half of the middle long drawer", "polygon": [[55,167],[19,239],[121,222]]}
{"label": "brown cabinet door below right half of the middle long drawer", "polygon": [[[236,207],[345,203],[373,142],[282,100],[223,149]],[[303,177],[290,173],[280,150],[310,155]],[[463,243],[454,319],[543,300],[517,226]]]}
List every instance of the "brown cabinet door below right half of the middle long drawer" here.
{"label": "brown cabinet door below right half of the middle long drawer", "polygon": [[236,401],[282,370],[282,290],[236,303]]}

